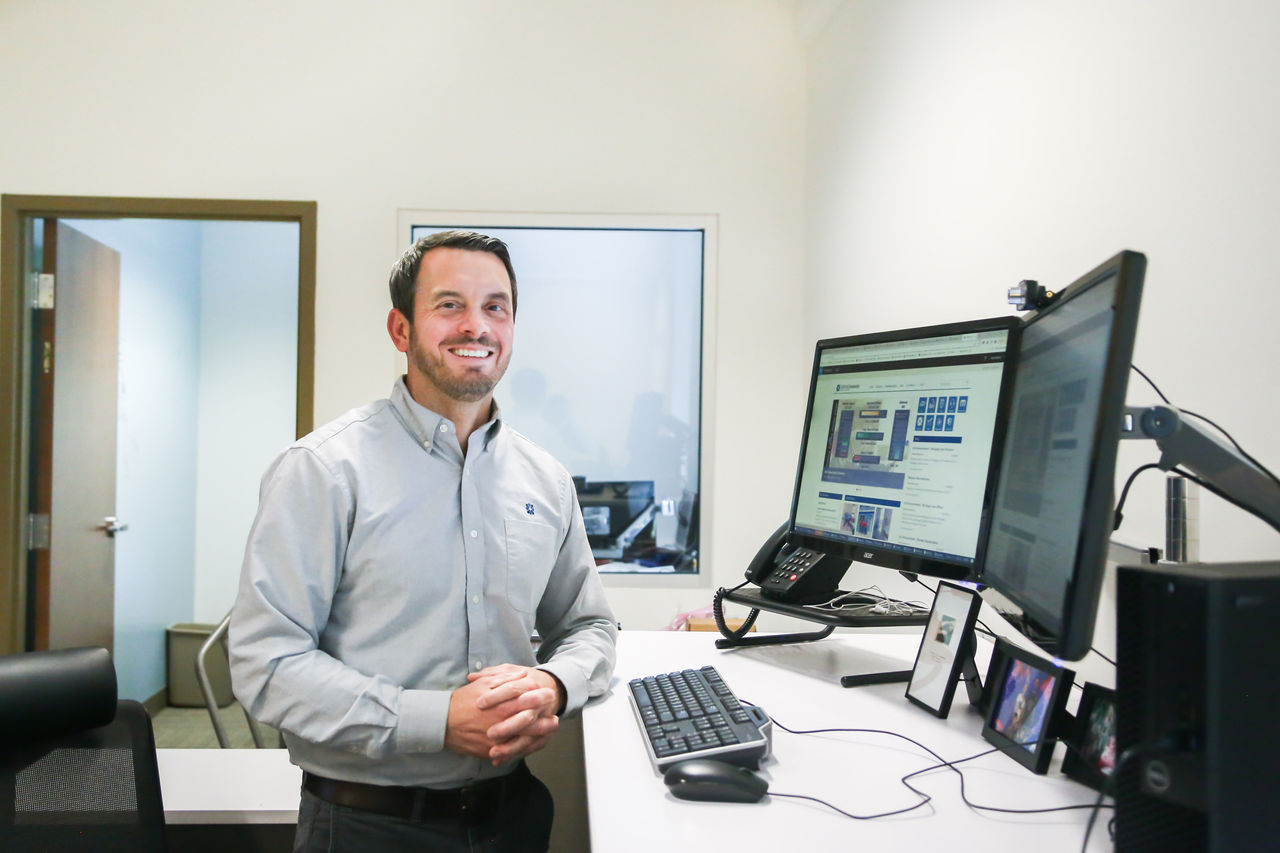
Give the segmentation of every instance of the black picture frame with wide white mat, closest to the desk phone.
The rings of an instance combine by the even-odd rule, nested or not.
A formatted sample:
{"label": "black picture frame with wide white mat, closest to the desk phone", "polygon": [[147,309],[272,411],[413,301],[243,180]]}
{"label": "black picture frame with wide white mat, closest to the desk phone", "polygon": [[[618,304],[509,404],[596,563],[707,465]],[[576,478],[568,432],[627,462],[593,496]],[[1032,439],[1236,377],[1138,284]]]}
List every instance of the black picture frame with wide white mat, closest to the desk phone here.
{"label": "black picture frame with wide white mat, closest to the desk phone", "polygon": [[951,711],[960,671],[973,654],[973,624],[980,607],[982,598],[974,590],[938,583],[906,685],[906,698],[934,716],[946,717]]}

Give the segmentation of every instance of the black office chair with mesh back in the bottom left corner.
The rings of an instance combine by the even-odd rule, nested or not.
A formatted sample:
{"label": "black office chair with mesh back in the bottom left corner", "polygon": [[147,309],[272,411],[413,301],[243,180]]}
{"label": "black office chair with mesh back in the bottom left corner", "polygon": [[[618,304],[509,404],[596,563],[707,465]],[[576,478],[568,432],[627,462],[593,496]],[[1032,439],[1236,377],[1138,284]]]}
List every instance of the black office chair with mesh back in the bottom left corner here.
{"label": "black office chair with mesh back in the bottom left corner", "polygon": [[105,648],[0,657],[0,849],[165,850],[151,717]]}

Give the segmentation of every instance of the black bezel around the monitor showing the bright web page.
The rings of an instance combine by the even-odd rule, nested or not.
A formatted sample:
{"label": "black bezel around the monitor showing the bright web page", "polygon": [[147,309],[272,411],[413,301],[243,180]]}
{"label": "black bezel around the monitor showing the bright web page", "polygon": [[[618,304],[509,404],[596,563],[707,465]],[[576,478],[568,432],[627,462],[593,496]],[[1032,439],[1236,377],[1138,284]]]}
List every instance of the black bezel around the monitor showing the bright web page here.
{"label": "black bezel around the monitor showing the bright web page", "polygon": [[[943,323],[938,325],[922,325],[909,329],[895,329],[891,332],[874,332],[869,334],[852,334],[838,338],[823,338],[814,347],[813,368],[809,373],[809,398],[805,403],[804,425],[800,430],[800,457],[796,462],[795,485],[791,491],[791,514],[788,516],[787,542],[805,548],[812,548],[820,553],[832,555],[851,562],[864,562],[883,569],[891,569],[913,575],[928,575],[943,580],[977,580],[982,558],[987,546],[987,530],[991,525],[991,511],[995,506],[996,482],[998,475],[998,462],[1004,456],[1004,437],[1009,418],[1009,405],[1012,398],[1014,356],[1021,333],[1021,321],[1016,316],[995,316],[982,320],[965,320],[963,323]],[[1007,332],[1005,339],[1004,370],[1000,377],[1000,394],[996,401],[996,421],[993,425],[991,457],[987,462],[987,483],[983,488],[982,516],[978,529],[977,549],[972,564],[940,560],[922,555],[910,555],[892,548],[882,548],[865,543],[844,542],[826,537],[815,537],[796,530],[796,507],[800,502],[800,480],[804,476],[805,451],[809,446],[809,425],[813,418],[814,397],[818,389],[818,370],[822,356],[827,350],[850,347],[860,345],[888,343],[893,341],[910,341],[919,338],[936,338],[951,334],[968,334],[975,332]]]}

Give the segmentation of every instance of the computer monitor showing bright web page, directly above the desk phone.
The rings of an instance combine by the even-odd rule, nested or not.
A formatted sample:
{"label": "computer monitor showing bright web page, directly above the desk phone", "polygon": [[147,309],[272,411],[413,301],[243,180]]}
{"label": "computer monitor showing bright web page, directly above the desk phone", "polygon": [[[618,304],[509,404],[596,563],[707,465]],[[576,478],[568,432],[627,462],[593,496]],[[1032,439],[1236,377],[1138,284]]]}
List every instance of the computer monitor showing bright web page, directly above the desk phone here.
{"label": "computer monitor showing bright web page, directly above the desk phone", "polygon": [[819,341],[787,540],[973,580],[1019,328],[1005,316]]}

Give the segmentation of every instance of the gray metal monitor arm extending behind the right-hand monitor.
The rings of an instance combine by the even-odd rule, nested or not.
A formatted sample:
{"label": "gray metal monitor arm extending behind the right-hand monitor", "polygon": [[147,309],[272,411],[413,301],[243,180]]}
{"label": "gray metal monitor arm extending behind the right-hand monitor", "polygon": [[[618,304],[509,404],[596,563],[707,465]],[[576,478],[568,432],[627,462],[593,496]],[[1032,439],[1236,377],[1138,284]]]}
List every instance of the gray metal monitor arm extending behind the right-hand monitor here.
{"label": "gray metal monitor arm extending behind the right-hand monitor", "polygon": [[1126,406],[1121,438],[1153,438],[1160,467],[1181,466],[1208,491],[1280,530],[1280,483],[1172,406]]}

